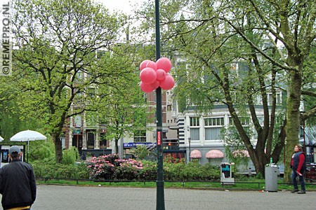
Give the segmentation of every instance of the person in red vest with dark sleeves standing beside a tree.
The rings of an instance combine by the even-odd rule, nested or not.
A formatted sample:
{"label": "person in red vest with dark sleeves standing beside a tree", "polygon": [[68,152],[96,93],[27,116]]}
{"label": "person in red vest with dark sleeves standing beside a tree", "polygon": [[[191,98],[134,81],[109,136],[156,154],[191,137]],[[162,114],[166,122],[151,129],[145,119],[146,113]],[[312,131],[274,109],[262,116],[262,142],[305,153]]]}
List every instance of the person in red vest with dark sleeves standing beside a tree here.
{"label": "person in red vest with dark sleeves standing beside a tree", "polygon": [[[306,169],[306,158],[305,153],[303,153],[303,149],[301,146],[296,145],[294,147],[294,154],[291,158],[291,179],[293,181],[294,190],[291,193],[305,194],[305,181],[304,181],[304,173]],[[296,178],[301,184],[301,191],[298,190]]]}

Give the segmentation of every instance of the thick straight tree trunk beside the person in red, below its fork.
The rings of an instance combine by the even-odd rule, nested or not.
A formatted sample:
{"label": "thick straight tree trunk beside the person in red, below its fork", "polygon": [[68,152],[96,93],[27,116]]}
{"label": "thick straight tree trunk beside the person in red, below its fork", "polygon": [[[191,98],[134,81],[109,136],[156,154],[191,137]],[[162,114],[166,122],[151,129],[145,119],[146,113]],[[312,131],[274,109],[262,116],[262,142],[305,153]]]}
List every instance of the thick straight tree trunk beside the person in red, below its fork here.
{"label": "thick straight tree trunk beside the person in red, below its fork", "polygon": [[287,140],[285,144],[285,174],[284,181],[289,182],[291,176],[290,162],[291,154],[294,153],[294,146],[299,144],[298,135],[300,131],[300,104],[302,76],[301,68],[298,71],[291,71],[289,78],[289,92],[287,98]]}

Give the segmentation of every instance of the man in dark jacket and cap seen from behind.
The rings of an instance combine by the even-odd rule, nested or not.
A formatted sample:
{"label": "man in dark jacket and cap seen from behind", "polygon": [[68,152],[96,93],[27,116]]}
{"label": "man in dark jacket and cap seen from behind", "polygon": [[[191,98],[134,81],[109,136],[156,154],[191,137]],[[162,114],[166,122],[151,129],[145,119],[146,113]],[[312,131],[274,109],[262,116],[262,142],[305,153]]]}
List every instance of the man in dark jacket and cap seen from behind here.
{"label": "man in dark jacket and cap seen from behind", "polygon": [[0,169],[0,193],[2,207],[7,209],[31,209],[37,195],[33,168],[21,160],[18,146],[9,148],[11,162]]}

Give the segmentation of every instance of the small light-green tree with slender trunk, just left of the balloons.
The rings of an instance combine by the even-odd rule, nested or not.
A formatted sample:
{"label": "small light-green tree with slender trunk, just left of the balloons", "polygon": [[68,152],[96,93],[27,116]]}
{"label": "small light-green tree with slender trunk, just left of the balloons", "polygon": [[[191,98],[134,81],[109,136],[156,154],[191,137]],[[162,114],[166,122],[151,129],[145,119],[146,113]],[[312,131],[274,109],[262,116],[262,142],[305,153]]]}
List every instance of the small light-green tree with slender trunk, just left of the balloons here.
{"label": "small light-green tree with slender trunk, just left of the balloons", "polygon": [[[111,71],[121,73],[112,76],[112,85],[99,85],[100,101],[97,119],[99,124],[106,125],[105,137],[107,140],[114,140],[115,153],[118,153],[119,139],[124,136],[131,137],[137,130],[145,130],[149,113],[147,113],[145,96],[138,85],[136,48],[120,44],[113,50],[111,54],[105,55],[100,60],[100,64],[107,66]],[[103,83],[103,80],[100,79],[99,83]]]}

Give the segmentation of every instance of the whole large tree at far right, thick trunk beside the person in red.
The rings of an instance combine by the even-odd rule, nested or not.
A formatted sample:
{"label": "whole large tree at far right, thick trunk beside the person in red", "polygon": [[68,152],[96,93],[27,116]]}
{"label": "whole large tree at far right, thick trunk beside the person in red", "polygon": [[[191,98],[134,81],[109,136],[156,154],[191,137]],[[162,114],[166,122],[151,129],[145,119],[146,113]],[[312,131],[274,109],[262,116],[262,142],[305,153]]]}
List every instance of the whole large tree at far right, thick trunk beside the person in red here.
{"label": "whole large tree at far right, thick trunk beside the person in red", "polygon": [[[254,52],[268,59],[268,61],[277,66],[279,69],[287,71],[287,147],[286,147],[286,174],[289,178],[290,169],[289,162],[293,153],[294,145],[298,144],[298,134],[300,131],[300,118],[308,118],[314,116],[316,108],[308,110],[306,113],[300,113],[301,95],[305,87],[305,73],[308,69],[304,69],[305,62],[308,62],[308,55],[312,43],[315,41],[315,18],[316,11],[313,1],[289,1],[284,0],[279,3],[270,1],[246,1],[240,3],[236,1],[232,4],[234,10],[239,13],[231,13],[232,16],[225,14],[228,10],[219,11],[217,13],[220,20],[230,25],[231,29],[243,40],[248,43]],[[271,11],[274,11],[271,13]],[[267,15],[269,14],[269,15]],[[258,20],[253,24],[242,25],[242,18],[246,15],[246,22]],[[277,57],[270,56],[264,49],[254,42],[252,33],[256,31],[263,37],[270,38],[270,42],[275,47]],[[279,52],[277,44],[284,46],[284,52]],[[304,90],[305,91],[305,90]],[[303,92],[304,93],[304,92]],[[307,92],[305,92],[307,93]],[[315,95],[315,92],[307,94]]]}

